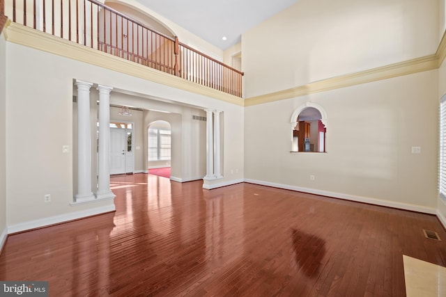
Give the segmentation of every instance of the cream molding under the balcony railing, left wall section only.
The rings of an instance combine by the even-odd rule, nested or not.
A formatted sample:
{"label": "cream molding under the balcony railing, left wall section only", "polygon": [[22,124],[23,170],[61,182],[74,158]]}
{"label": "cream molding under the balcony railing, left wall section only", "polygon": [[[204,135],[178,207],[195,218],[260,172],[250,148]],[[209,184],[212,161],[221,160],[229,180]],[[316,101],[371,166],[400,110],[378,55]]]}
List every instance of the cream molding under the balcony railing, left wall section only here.
{"label": "cream molding under the balcony railing, left wall section only", "polygon": [[10,22],[9,26],[7,24],[3,33],[6,41],[13,42],[17,45],[39,49],[51,54],[160,83],[164,86],[178,88],[187,92],[243,106],[243,99],[239,97],[214,90],[213,88],[201,86],[198,83],[193,83],[192,81],[187,81],[186,79],[155,70],[151,67],[118,58],[117,56],[106,54],[97,49],[78,45],[76,42],[59,38],[49,33],[43,33],[21,24]]}

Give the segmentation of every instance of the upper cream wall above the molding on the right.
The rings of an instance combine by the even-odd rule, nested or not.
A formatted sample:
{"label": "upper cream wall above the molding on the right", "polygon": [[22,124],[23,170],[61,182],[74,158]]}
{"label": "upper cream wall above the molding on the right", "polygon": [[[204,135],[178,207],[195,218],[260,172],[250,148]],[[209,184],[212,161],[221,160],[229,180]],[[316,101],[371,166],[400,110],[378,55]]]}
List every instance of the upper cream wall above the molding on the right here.
{"label": "upper cream wall above the molding on the right", "polygon": [[245,97],[434,54],[439,7],[300,0],[242,35]]}

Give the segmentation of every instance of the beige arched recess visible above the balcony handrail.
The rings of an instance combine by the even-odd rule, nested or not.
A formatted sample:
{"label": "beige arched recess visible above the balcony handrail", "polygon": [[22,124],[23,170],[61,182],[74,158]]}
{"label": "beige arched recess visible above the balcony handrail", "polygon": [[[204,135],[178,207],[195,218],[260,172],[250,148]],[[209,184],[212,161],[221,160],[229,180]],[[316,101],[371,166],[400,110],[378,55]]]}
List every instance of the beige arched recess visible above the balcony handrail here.
{"label": "beige arched recess visible above the balcony handrail", "polygon": [[163,24],[160,20],[156,19],[151,15],[148,15],[148,13],[145,13],[142,10],[139,10],[139,8],[136,8],[128,3],[125,3],[124,1],[109,0],[105,1],[105,5],[109,6],[110,8],[113,8],[114,10],[117,10],[119,13],[123,13],[124,15],[131,17],[132,19],[140,22],[141,24],[144,24],[149,29],[153,29],[170,38],[175,38],[176,36],[174,31],[171,30],[165,24]]}

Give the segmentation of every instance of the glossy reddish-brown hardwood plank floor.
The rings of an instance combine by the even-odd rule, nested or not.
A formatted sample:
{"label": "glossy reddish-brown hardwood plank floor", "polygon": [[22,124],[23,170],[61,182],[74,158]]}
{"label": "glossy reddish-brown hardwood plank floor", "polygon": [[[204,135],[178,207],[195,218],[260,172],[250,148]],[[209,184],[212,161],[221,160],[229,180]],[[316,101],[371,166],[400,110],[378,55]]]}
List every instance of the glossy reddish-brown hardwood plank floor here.
{"label": "glossy reddish-brown hardwood plank floor", "polygon": [[47,280],[50,296],[405,296],[403,255],[446,266],[435,216],[201,186],[112,177],[116,213],[9,236],[0,280]]}

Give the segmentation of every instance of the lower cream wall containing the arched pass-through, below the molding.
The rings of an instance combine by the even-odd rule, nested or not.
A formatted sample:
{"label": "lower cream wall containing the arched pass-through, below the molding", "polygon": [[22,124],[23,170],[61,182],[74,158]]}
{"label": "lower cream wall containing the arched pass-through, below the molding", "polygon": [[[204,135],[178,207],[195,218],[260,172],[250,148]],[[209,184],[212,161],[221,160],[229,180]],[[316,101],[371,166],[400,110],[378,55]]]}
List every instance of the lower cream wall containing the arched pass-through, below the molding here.
{"label": "lower cream wall containing the arched pass-through, below the molding", "polygon": [[[431,70],[246,107],[245,178],[435,212],[437,75]],[[290,118],[305,102],[327,113],[326,154],[290,153]],[[413,146],[422,153],[411,154]]]}

